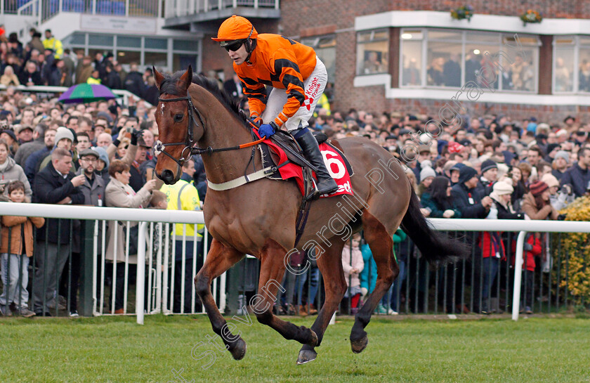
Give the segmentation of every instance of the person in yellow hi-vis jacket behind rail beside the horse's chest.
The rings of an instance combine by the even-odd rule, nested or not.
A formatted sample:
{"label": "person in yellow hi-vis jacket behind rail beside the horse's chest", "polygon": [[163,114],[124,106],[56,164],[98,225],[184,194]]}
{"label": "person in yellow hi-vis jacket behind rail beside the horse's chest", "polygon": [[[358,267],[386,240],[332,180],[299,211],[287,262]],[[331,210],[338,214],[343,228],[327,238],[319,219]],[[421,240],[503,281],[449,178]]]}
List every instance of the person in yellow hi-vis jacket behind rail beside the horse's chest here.
{"label": "person in yellow hi-vis jacket behind rail beside the horse's chest", "polygon": [[[160,190],[166,194],[169,210],[200,210],[201,201],[197,188],[192,183],[192,174],[195,173],[195,162],[191,159],[183,164],[183,175],[177,183],[164,185]],[[195,302],[195,311],[200,311],[200,301],[197,293],[192,288],[192,278],[203,264],[203,235],[204,225],[176,224],[172,235],[176,233],[174,241],[174,301],[173,313],[190,313],[193,311],[192,302]],[[196,228],[195,228],[196,226]],[[195,236],[196,229],[196,236]],[[183,251],[183,238],[186,238]],[[195,243],[196,242],[196,243]],[[195,258],[196,255],[196,258]],[[184,261],[184,273],[183,273]],[[195,270],[193,271],[193,264]],[[183,299],[184,297],[184,299]],[[181,304],[182,302],[182,304]]]}

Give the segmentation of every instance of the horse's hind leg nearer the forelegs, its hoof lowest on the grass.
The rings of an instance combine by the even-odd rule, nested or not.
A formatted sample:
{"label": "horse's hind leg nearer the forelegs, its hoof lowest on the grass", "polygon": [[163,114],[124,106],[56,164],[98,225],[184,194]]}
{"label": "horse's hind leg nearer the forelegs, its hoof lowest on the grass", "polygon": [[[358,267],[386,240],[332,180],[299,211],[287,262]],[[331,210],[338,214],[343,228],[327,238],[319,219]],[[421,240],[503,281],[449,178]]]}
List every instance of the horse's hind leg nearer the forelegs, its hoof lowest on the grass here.
{"label": "horse's hind leg nearer the forelegs, its hoof lowest on the grass", "polygon": [[[342,248],[344,242],[339,238],[330,238],[333,243],[324,254],[317,258],[317,267],[322,272],[324,286],[326,290],[326,300],[322,305],[322,309],[317,314],[315,322],[311,326],[317,334],[317,346],[320,346],[324,333],[328,327],[330,319],[338,309],[340,301],[346,292],[346,279],[344,278],[344,271],[342,269]],[[313,361],[317,353],[313,346],[304,344],[299,351],[299,358],[297,364],[308,363]]]}

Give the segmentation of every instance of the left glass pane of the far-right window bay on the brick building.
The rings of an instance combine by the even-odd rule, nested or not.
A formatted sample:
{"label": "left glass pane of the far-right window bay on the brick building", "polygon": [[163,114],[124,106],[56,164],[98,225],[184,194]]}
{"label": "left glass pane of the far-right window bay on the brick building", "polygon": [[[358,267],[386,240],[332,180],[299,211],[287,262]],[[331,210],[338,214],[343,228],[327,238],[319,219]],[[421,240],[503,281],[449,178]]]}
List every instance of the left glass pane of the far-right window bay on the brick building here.
{"label": "left glass pane of the far-right window bay on the brick building", "polygon": [[553,91],[574,91],[575,41],[573,37],[556,37],[553,43]]}

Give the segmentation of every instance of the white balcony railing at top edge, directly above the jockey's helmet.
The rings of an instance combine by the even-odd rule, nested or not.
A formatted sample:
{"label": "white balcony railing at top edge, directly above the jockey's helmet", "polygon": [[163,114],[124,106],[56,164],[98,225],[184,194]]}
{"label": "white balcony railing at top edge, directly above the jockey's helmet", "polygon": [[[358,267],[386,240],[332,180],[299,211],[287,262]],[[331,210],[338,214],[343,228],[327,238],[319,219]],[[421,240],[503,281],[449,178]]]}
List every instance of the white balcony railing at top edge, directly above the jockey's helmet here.
{"label": "white balcony railing at top edge, directly above the jockey's helmet", "polygon": [[169,0],[164,8],[164,18],[178,18],[237,7],[279,9],[279,0]]}

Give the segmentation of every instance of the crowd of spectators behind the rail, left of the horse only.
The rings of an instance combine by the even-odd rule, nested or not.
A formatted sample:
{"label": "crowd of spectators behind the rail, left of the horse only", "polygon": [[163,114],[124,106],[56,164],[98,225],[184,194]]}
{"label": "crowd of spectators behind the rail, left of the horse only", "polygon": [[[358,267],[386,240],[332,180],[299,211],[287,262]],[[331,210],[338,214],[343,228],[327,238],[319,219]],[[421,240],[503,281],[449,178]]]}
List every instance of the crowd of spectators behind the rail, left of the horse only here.
{"label": "crowd of spectators behind the rail, left of the horse only", "polygon": [[[61,104],[57,98],[41,98],[36,93],[23,93],[8,87],[0,94],[0,188],[1,198],[13,202],[37,202],[58,205],[90,205],[107,207],[135,207],[166,209],[200,209],[206,193],[205,174],[200,157],[185,163],[183,190],[176,186],[162,186],[155,178],[156,158],[153,152],[157,125],[155,107],[147,108],[144,100],[131,100],[131,105],[118,105],[116,101],[98,101],[89,104]],[[18,184],[22,201],[13,198]],[[177,185],[181,185],[179,182]],[[158,190],[162,186],[162,191]],[[198,191],[197,191],[198,190]],[[16,191],[14,193],[17,193]],[[187,202],[188,201],[188,202]],[[1,234],[15,237],[23,233],[24,242],[13,241],[11,249],[2,247],[2,281],[4,294],[0,298],[2,313],[20,313],[23,316],[48,316],[62,310],[77,315],[77,288],[81,253],[81,222],[70,219],[32,219],[20,221],[18,217],[2,218]],[[32,226],[37,227],[33,235]],[[134,229],[135,228],[135,231]],[[129,267],[126,270],[126,230],[129,230]],[[175,229],[183,233],[182,226]],[[192,229],[188,228],[190,235]],[[99,228],[102,235],[102,227]],[[135,234],[134,234],[135,233]],[[136,274],[136,223],[130,228],[126,222],[110,221],[105,241],[106,285],[114,285],[112,313],[124,313],[124,279],[129,273],[133,282]],[[135,236],[134,236],[135,235]],[[199,240],[202,235],[199,233]],[[17,236],[20,239],[20,234]],[[15,237],[16,238],[16,237]],[[135,240],[135,241],[134,241]],[[172,242],[172,241],[171,241]],[[178,241],[177,241],[178,242]],[[23,245],[20,245],[23,243]],[[3,241],[2,245],[6,242]],[[98,251],[102,244],[99,241]],[[178,247],[178,260],[182,258]],[[197,257],[202,264],[202,246],[197,245]],[[6,254],[5,254],[6,253]],[[8,258],[7,254],[11,254]],[[192,259],[192,246],[191,246]],[[21,279],[23,288],[15,292],[13,273],[23,264],[27,270],[28,257],[34,256],[32,287]],[[11,259],[11,261],[8,261]],[[119,267],[117,267],[119,264]],[[98,265],[99,268],[102,266]],[[71,268],[68,271],[68,268]],[[7,278],[7,271],[12,270]],[[67,271],[67,272],[66,272]],[[28,271],[23,271],[27,273]],[[177,279],[185,283],[176,288],[180,302],[181,287],[190,292],[192,278]],[[16,275],[16,274],[15,274]],[[113,278],[116,279],[113,283]],[[28,282],[28,281],[27,281]],[[69,285],[69,286],[68,286]],[[187,289],[188,286],[188,289]],[[10,287],[8,289],[7,287]],[[32,292],[31,309],[28,291]],[[187,296],[188,295],[188,296]],[[112,295],[111,295],[112,297]],[[185,294],[184,312],[190,310],[197,297]],[[111,302],[111,299],[109,299]],[[198,303],[198,302],[197,302]],[[175,301],[175,312],[181,312]]]}

